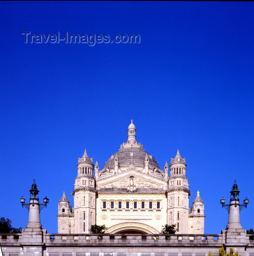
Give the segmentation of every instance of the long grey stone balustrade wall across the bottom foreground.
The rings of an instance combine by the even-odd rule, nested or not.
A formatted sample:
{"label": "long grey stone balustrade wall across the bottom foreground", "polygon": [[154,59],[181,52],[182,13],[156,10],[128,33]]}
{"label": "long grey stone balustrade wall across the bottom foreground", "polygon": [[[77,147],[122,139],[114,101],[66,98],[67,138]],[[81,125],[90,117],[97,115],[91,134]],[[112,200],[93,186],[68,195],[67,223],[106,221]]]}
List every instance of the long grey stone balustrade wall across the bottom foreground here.
{"label": "long grey stone balustrade wall across the bottom foreground", "polygon": [[191,235],[70,235],[23,230],[22,234],[1,234],[0,244],[4,256],[207,256],[209,252],[218,255],[222,245],[226,252],[231,247],[241,256],[254,256],[253,235],[243,238],[241,234],[238,241],[238,233],[224,230],[222,234]]}

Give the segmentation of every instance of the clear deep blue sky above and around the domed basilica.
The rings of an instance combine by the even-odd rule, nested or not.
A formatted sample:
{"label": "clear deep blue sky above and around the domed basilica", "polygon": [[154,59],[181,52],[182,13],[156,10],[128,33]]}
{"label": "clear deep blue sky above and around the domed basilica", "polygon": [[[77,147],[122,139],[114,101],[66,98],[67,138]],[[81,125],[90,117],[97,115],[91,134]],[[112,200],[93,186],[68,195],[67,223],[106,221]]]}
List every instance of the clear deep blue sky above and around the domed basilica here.
{"label": "clear deep blue sky above and around the domed basilica", "polygon": [[[252,2],[0,2],[1,208],[15,227],[28,222],[19,198],[33,178],[48,233],[58,200],[73,205],[78,157],[99,169],[127,140],[160,168],[186,158],[192,195],[205,203],[205,233],[226,228],[237,180],[244,229],[254,228],[254,4]],[[133,34],[140,44],[25,44],[35,34]]]}

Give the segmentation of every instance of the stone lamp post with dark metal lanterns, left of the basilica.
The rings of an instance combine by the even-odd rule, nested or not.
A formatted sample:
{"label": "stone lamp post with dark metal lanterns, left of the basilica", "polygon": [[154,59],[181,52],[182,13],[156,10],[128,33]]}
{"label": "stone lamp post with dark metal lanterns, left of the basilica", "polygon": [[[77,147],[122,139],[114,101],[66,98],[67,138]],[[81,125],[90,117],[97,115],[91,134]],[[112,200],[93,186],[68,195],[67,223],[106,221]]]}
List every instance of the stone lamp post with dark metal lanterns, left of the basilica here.
{"label": "stone lamp post with dark metal lanterns, left of the basilica", "polygon": [[42,224],[40,223],[40,210],[45,206],[47,207],[47,203],[49,199],[46,197],[43,198],[44,204],[39,203],[39,190],[37,189],[37,185],[35,184],[35,179],[30,189],[30,202],[29,204],[25,203],[25,199],[22,196],[20,198],[20,203],[22,207],[26,207],[29,211],[28,224],[26,228],[42,228]]}

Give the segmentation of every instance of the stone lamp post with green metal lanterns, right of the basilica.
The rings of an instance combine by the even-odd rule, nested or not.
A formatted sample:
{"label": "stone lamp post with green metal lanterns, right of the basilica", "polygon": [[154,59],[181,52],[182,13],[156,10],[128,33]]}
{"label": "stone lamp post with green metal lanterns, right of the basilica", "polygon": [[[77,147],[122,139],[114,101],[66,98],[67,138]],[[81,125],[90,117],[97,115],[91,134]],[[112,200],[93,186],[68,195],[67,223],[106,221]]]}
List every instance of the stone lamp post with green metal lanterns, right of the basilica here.
{"label": "stone lamp post with green metal lanterns, right of the basilica", "polygon": [[238,186],[235,183],[232,187],[232,190],[230,191],[230,204],[225,204],[226,199],[222,197],[220,199],[220,203],[222,204],[222,208],[224,207],[228,211],[228,223],[226,229],[242,229],[242,226],[240,224],[240,211],[243,208],[247,208],[247,204],[249,203],[249,199],[244,199],[244,204],[239,204],[239,190]]}

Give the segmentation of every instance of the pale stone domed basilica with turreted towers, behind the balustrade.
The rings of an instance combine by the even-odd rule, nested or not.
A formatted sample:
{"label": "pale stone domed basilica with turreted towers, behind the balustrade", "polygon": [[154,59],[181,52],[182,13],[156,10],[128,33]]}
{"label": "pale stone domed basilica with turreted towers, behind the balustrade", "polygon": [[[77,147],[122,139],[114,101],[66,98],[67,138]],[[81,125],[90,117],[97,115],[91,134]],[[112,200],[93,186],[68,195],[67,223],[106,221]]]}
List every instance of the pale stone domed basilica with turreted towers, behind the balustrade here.
{"label": "pale stone domed basilica with turreted towers, behind the balustrade", "polygon": [[158,234],[165,224],[177,234],[204,234],[204,204],[199,191],[189,207],[185,158],[179,150],[164,169],[136,142],[133,120],[128,139],[103,169],[87,151],[78,158],[74,207],[63,192],[58,204],[59,234],[88,234],[105,225],[110,234]]}

